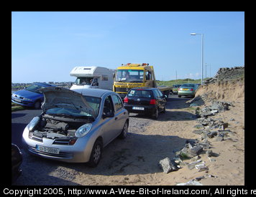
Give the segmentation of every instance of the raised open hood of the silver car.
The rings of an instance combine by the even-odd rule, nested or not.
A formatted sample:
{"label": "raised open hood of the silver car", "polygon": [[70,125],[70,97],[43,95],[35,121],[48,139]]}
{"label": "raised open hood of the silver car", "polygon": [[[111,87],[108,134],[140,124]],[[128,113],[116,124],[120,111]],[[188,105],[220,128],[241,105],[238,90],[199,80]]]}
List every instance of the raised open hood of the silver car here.
{"label": "raised open hood of the silver car", "polygon": [[42,110],[52,107],[68,107],[71,109],[81,110],[96,118],[96,113],[93,108],[88,105],[85,97],[81,93],[69,90],[63,87],[45,87],[40,89],[44,94],[45,101],[42,103]]}

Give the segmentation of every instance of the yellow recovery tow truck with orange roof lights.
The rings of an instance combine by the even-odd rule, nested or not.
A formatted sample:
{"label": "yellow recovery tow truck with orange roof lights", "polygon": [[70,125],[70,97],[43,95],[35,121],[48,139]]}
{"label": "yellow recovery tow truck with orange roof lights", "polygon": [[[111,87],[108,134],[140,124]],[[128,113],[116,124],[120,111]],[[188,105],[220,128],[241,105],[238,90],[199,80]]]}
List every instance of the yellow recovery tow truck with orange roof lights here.
{"label": "yellow recovery tow truck with orange roof lights", "polygon": [[[119,93],[122,99],[132,87],[157,87],[154,67],[147,63],[142,64],[122,64],[116,68],[114,74],[113,91]],[[157,87],[163,95],[170,95],[173,87]]]}

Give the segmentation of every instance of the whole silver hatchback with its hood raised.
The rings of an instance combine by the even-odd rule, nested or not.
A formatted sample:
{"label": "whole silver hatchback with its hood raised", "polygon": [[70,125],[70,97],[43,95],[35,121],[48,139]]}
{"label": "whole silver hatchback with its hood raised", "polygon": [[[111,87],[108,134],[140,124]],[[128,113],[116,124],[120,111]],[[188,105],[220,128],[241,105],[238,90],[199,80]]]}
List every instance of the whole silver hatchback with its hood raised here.
{"label": "whole silver hatchback with its hood raised", "polygon": [[117,136],[127,136],[129,114],[115,92],[60,87],[41,91],[42,114],[29,122],[22,135],[29,153],[95,167],[104,146]]}

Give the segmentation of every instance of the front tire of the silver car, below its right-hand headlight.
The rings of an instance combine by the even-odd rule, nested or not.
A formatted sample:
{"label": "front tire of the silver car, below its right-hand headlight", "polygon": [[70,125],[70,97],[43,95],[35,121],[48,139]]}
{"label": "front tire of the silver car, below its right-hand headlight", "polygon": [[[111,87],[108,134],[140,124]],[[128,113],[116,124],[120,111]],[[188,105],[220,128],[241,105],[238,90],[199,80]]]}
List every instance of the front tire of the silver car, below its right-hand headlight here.
{"label": "front tire of the silver car, below its right-hand headlight", "polygon": [[93,149],[91,150],[91,157],[88,162],[88,165],[92,168],[95,168],[99,161],[101,160],[102,155],[102,143],[101,140],[96,140],[96,142],[93,145]]}

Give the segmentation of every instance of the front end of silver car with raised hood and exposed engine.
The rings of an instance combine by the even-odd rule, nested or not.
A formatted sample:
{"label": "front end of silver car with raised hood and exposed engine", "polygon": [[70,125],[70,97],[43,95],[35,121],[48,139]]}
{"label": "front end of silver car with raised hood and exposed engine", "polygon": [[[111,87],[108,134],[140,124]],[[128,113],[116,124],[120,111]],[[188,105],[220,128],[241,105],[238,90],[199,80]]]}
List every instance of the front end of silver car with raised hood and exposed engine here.
{"label": "front end of silver car with raised hood and exposed engine", "polygon": [[99,135],[90,131],[97,124],[101,97],[60,87],[46,87],[41,92],[45,97],[42,114],[29,122],[22,135],[26,150],[44,158],[88,162]]}

